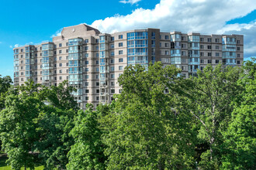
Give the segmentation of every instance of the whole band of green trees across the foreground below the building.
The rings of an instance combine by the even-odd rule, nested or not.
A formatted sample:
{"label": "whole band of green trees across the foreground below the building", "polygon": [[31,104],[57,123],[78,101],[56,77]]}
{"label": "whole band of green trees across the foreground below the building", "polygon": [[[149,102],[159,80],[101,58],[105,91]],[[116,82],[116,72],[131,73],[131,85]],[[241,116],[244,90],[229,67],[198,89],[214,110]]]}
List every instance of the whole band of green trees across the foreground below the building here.
{"label": "whole band of green trees across the foreground below the building", "polygon": [[2,150],[13,169],[255,169],[255,60],[128,66],[109,105],[79,110],[68,83],[13,88],[0,77]]}

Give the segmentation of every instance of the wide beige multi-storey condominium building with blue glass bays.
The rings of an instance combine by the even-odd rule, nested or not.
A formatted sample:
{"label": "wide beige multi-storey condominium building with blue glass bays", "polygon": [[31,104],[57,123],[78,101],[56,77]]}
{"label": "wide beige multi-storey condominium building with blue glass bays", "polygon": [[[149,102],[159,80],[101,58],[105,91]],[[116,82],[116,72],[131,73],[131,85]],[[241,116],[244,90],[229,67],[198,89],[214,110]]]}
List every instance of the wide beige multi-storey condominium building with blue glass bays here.
{"label": "wide beige multi-storey condominium building with blue glass bays", "polygon": [[202,35],[135,29],[101,33],[85,24],[65,27],[52,42],[14,48],[14,85],[33,80],[49,87],[68,80],[78,90],[80,107],[96,106],[120,93],[118,77],[126,66],[161,61],[182,70],[180,76],[196,76],[207,64],[241,66],[244,36]]}

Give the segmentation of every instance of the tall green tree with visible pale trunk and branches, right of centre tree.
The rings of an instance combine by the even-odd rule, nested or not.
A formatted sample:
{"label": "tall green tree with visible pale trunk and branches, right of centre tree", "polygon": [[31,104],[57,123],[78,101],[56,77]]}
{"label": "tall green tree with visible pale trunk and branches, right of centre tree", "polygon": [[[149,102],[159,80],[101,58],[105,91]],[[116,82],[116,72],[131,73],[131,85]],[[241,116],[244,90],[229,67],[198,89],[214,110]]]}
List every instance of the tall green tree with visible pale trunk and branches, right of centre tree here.
{"label": "tall green tree with visible pale trunk and branches, right of centre tree", "polygon": [[231,103],[243,91],[243,87],[237,85],[240,72],[238,67],[206,66],[203,71],[198,70],[198,77],[187,80],[190,111],[201,124],[199,139],[209,145],[209,150],[201,155],[201,167],[218,168],[220,165],[221,131],[227,128],[234,110]]}

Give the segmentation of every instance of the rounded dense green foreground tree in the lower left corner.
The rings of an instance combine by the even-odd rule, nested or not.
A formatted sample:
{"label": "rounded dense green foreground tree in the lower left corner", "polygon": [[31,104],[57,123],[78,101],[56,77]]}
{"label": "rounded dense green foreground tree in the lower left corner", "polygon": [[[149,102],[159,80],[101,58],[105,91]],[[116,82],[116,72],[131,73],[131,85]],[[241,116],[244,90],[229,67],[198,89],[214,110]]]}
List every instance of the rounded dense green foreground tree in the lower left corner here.
{"label": "rounded dense green foreground tree in the lower left corner", "polygon": [[14,169],[23,166],[34,169],[34,142],[38,140],[38,117],[43,105],[43,96],[38,90],[40,85],[32,81],[17,90],[9,92],[5,100],[5,109],[0,112],[0,132],[2,148],[8,154],[8,164]]}

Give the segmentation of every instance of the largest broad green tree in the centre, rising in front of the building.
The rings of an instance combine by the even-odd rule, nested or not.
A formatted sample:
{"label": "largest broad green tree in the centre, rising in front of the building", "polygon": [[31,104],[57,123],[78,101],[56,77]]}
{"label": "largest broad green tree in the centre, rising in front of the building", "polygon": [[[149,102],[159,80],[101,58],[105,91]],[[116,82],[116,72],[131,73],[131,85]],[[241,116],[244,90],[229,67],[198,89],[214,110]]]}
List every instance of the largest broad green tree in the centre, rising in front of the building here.
{"label": "largest broad green tree in the centre, rising in front of the building", "polygon": [[189,121],[175,105],[178,73],[161,63],[124,70],[119,77],[123,92],[105,117],[108,169],[190,168]]}

